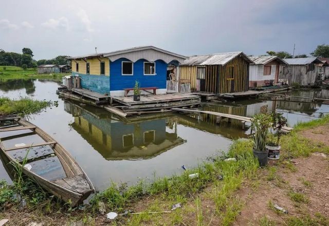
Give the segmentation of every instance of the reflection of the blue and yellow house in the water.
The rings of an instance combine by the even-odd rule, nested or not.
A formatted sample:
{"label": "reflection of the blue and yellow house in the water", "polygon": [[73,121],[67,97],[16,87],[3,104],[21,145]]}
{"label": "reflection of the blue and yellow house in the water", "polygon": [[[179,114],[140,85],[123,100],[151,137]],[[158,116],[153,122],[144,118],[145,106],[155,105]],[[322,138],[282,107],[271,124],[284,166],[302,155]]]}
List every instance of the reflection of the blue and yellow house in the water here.
{"label": "reflection of the blue and yellow house in the water", "polygon": [[[65,102],[65,110],[75,117],[71,127],[107,160],[148,159],[178,146],[177,122],[169,119],[126,123],[106,114],[95,114]],[[173,132],[167,131],[167,126]],[[168,129],[171,130],[171,129]]]}

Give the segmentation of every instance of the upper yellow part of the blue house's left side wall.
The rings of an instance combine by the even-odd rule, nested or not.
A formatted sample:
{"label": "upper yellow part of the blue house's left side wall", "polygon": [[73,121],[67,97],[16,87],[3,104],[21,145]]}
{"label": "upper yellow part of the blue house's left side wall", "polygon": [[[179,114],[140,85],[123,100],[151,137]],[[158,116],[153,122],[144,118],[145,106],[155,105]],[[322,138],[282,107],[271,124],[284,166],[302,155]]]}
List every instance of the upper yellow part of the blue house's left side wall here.
{"label": "upper yellow part of the blue house's left side wall", "polygon": [[[105,76],[109,76],[109,60],[108,58],[99,58],[100,61],[105,62]],[[90,66],[90,74],[100,75],[101,73],[101,62],[97,58],[94,59],[87,59],[86,61],[89,63]],[[72,72],[76,71],[76,62],[79,63],[79,73],[85,74],[86,73],[86,62],[83,60],[71,60],[72,63]]]}

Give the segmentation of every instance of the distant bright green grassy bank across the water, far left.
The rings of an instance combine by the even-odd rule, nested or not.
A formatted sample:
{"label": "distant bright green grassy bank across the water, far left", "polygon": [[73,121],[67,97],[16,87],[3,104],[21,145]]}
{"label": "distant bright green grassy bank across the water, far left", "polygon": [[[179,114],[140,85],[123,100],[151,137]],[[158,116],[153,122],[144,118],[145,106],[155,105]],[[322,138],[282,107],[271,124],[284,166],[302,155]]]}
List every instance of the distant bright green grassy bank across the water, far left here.
{"label": "distant bright green grassy bank across the water, far left", "polygon": [[27,68],[24,70],[21,67],[15,66],[0,66],[0,81],[6,81],[10,79],[57,79],[60,80],[66,74],[54,73],[54,74],[38,74],[36,69]]}

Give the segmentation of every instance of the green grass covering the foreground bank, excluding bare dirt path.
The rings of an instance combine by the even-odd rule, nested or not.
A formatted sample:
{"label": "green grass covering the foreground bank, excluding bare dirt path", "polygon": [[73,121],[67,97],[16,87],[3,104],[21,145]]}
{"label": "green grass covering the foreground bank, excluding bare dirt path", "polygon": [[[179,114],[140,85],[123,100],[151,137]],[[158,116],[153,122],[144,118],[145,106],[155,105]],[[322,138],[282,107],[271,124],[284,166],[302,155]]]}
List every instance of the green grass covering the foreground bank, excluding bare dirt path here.
{"label": "green grass covering the foreground bank, excluding bare dirt path", "polygon": [[[267,190],[263,184],[268,183],[279,187],[280,192],[287,191],[286,196],[296,206],[307,205],[308,197],[300,191],[293,190],[279,173],[297,170],[296,165],[291,161],[293,158],[308,157],[314,152],[329,154],[328,145],[301,136],[301,133],[307,129],[328,124],[329,116],[298,124],[291,133],[282,136],[280,160],[269,167],[259,168],[258,161],[252,154],[252,141],[239,139],[233,142],[227,154],[213,157],[212,160],[200,163],[198,167],[189,169],[181,175],[154,178],[152,183],[141,180],[130,187],[113,184],[105,191],[95,194],[90,200],[90,205],[83,210],[72,209],[69,203],[53,201],[47,196],[48,198],[45,199],[36,199],[35,203],[38,204],[28,201],[25,216],[30,220],[53,225],[70,222],[80,222],[84,225],[232,225],[240,216],[247,201],[253,195]],[[235,158],[236,161],[224,161],[226,158]],[[189,177],[190,174],[195,173],[198,174],[197,177]],[[313,186],[304,178],[300,180],[305,187]],[[242,191],[245,190],[248,192],[243,194]],[[0,218],[21,214],[19,202],[12,199],[16,192],[15,186],[0,184],[0,208],[6,209],[3,214],[0,212]],[[26,192],[22,192],[21,196],[33,200],[33,196]],[[169,211],[176,203],[181,203],[182,208],[161,213]],[[327,225],[326,223],[329,222],[322,215],[313,217],[308,215],[307,211],[302,212],[304,214],[302,218],[295,213],[282,215],[273,209],[272,202],[264,203],[265,207],[256,211],[261,212],[266,209],[277,214],[280,219],[284,219],[283,225]],[[252,205],[258,206],[259,203],[252,201]],[[9,210],[8,206],[10,206]],[[105,214],[108,212],[123,213],[127,210],[139,214],[118,216],[115,221],[106,220]],[[160,214],[149,214],[150,212],[160,212]],[[13,225],[24,225],[27,222],[29,221],[12,220]],[[251,225],[275,224],[264,215],[256,224]]]}

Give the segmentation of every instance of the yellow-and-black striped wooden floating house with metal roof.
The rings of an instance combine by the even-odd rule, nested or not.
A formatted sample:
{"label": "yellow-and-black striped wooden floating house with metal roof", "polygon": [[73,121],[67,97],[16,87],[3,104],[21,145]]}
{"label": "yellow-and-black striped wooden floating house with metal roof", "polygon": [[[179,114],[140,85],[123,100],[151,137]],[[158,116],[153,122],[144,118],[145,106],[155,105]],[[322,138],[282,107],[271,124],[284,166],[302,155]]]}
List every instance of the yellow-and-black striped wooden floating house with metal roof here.
{"label": "yellow-and-black striped wooden floating house with metal roof", "polygon": [[243,52],[194,55],[181,63],[181,82],[189,81],[191,89],[209,93],[248,90],[249,64],[253,62]]}

